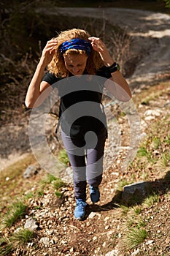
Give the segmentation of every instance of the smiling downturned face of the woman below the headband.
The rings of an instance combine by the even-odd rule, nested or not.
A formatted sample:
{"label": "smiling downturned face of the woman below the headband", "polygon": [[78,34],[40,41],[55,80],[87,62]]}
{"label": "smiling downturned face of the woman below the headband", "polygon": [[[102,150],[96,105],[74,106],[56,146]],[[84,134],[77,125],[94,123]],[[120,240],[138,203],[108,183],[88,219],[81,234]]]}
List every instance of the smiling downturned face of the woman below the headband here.
{"label": "smiling downturned face of the woman below the headband", "polygon": [[88,56],[85,53],[63,54],[63,59],[66,69],[72,73],[72,75],[82,75],[85,71]]}

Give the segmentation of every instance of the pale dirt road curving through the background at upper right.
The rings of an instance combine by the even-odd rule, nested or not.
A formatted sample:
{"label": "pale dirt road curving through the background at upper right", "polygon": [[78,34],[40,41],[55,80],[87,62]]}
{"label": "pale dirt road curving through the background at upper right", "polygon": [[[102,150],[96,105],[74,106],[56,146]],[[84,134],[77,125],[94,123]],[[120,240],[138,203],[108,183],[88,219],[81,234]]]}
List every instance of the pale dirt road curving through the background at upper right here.
{"label": "pale dirt road curving through the background at upper right", "polygon": [[[106,18],[112,25],[126,29],[134,37],[134,51],[143,53],[133,83],[148,83],[170,70],[170,15],[121,8],[57,8],[53,14]],[[107,29],[107,28],[106,28]]]}

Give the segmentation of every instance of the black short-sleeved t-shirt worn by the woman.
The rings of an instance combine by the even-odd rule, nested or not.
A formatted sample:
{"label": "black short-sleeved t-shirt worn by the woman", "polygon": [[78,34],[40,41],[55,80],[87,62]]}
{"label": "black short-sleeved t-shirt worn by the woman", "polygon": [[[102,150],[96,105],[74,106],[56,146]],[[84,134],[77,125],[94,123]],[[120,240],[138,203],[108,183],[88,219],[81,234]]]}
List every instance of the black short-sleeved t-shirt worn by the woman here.
{"label": "black short-sleeved t-shirt worn by the woman", "polygon": [[97,135],[104,127],[107,129],[101,97],[104,80],[111,77],[106,68],[96,75],[71,75],[69,78],[57,78],[47,72],[42,80],[58,89],[61,98],[58,124],[61,123],[63,132],[74,138],[84,136],[88,131]]}

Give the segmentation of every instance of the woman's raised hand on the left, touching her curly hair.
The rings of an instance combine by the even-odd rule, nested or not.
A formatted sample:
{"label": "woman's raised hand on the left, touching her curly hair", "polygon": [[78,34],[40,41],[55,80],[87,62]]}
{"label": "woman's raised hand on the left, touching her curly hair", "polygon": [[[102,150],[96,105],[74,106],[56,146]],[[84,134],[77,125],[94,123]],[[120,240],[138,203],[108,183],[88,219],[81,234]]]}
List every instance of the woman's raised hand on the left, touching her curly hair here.
{"label": "woman's raised hand on the left, touching her curly hair", "polygon": [[44,64],[45,67],[47,66],[47,64],[49,64],[52,61],[53,56],[55,54],[55,46],[57,44],[58,44],[58,41],[56,39],[51,39],[47,41],[45,48],[42,50],[42,56],[41,56],[40,62],[42,62],[42,64]]}

